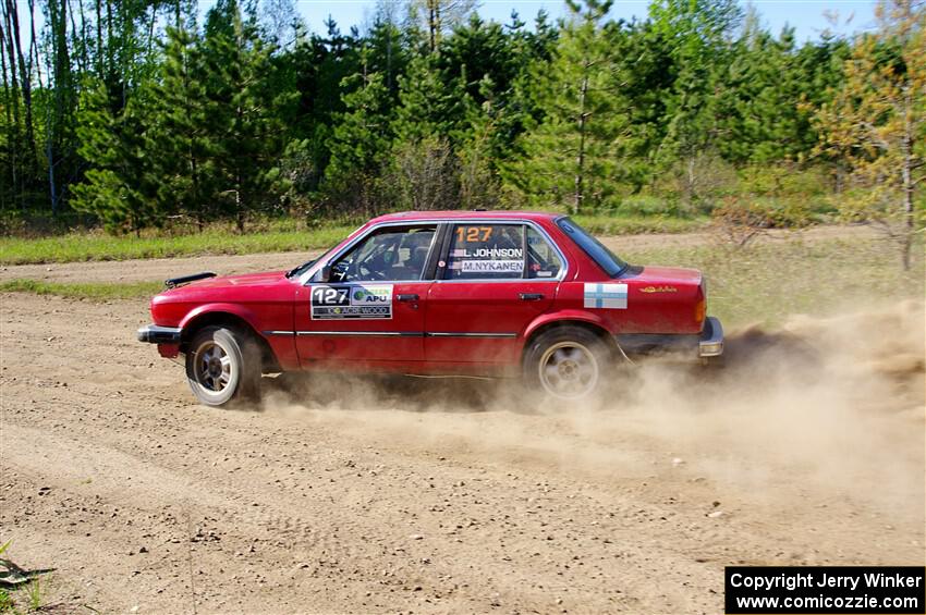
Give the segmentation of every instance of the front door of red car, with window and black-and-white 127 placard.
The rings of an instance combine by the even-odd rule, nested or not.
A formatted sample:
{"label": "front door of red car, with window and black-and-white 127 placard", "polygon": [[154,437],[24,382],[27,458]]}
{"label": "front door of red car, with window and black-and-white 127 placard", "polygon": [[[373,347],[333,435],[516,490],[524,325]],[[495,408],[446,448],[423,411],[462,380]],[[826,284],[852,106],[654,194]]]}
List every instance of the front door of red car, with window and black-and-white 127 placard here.
{"label": "front door of red car, with window and black-and-white 127 placard", "polygon": [[363,369],[424,360],[436,238],[437,224],[380,226],[333,256],[329,281],[316,275],[300,293],[302,366]]}

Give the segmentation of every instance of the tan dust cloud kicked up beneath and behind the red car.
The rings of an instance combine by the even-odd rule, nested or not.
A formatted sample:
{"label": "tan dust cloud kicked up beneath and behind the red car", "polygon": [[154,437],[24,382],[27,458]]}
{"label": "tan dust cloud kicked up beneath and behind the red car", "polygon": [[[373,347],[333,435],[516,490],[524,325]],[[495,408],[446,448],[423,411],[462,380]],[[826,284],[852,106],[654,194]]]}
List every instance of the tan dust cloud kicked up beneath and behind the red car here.
{"label": "tan dust cloud kicked up beneath and behind the red car", "polygon": [[471,455],[576,480],[710,481],[751,504],[851,500],[926,518],[924,305],[728,331],[722,368],[647,360],[600,398],[537,402],[513,382],[281,381],[264,409],[352,430],[358,446]]}

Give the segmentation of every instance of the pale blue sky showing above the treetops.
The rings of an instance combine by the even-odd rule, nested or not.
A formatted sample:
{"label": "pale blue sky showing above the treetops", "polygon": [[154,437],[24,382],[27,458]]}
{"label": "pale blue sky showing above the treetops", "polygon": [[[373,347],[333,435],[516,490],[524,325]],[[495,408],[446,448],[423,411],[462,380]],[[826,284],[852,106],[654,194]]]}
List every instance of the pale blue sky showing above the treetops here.
{"label": "pale blue sky showing above the treetops", "polygon": [[[313,32],[325,32],[324,22],[330,14],[342,32],[352,25],[368,23],[376,10],[375,0],[293,0],[296,10]],[[200,5],[209,3],[200,0]],[[630,20],[633,16],[644,19],[649,0],[616,0],[610,15],[613,19]],[[746,3],[743,2],[745,7]],[[829,29],[834,34],[852,34],[874,28],[875,2],[870,0],[753,0],[766,25],[771,32],[779,33],[788,24],[795,28],[799,42],[817,39]],[[534,21],[537,11],[544,9],[556,19],[566,13],[564,0],[483,0],[479,15],[485,20],[501,23],[510,21],[512,10],[528,24]],[[833,24],[825,14],[838,14]],[[851,17],[851,20],[850,20]]]}

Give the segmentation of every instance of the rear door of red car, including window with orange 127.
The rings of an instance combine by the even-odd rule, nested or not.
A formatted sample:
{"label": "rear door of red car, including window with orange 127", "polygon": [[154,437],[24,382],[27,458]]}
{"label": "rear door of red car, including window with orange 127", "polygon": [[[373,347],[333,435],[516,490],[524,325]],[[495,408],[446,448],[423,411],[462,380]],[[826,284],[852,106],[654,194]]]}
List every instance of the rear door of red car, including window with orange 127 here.
{"label": "rear door of red car, including window with orange 127", "polygon": [[552,306],[564,263],[533,224],[450,224],[437,281],[428,294],[428,364],[489,366],[519,360],[521,334]]}

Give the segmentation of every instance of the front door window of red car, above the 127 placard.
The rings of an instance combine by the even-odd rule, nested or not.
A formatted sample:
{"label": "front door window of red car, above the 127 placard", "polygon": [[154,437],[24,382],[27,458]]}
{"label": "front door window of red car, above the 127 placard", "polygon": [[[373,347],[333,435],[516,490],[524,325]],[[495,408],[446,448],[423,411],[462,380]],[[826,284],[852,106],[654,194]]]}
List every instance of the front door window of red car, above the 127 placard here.
{"label": "front door window of red car, above the 127 placard", "polygon": [[421,280],[437,227],[387,226],[331,265],[332,282]]}

